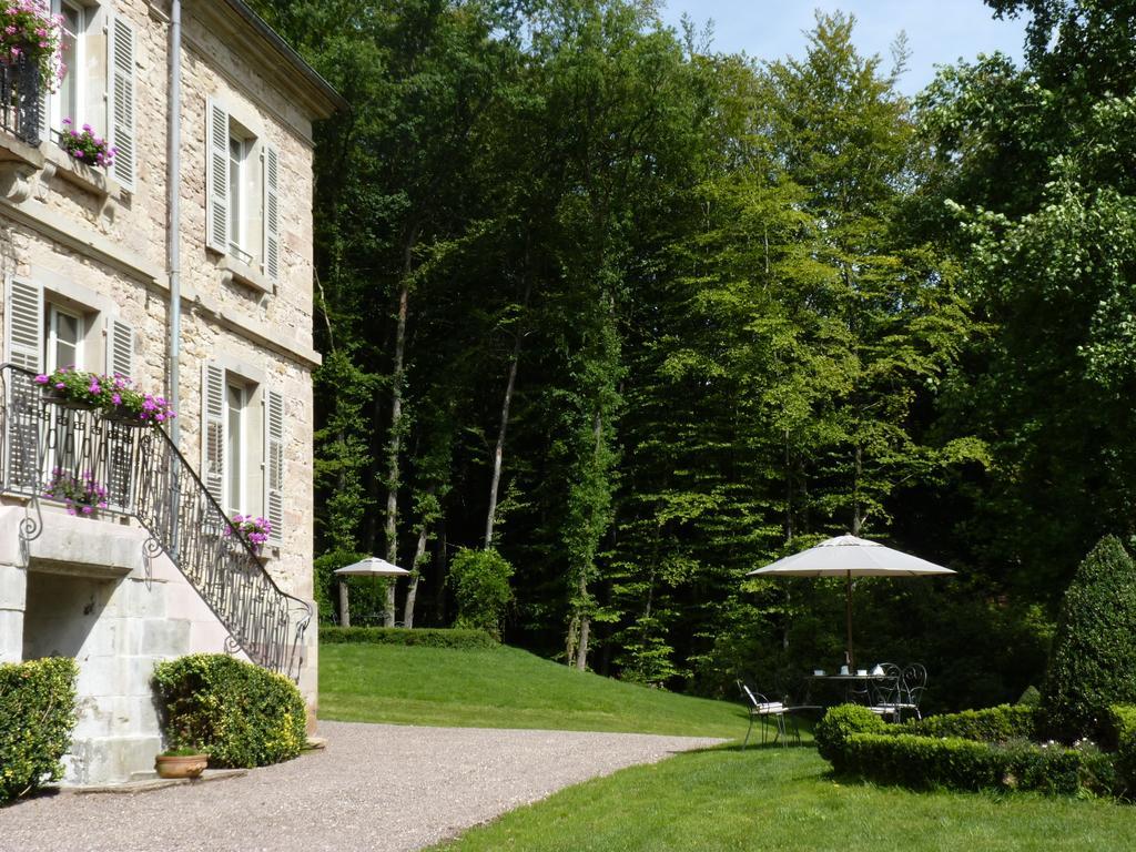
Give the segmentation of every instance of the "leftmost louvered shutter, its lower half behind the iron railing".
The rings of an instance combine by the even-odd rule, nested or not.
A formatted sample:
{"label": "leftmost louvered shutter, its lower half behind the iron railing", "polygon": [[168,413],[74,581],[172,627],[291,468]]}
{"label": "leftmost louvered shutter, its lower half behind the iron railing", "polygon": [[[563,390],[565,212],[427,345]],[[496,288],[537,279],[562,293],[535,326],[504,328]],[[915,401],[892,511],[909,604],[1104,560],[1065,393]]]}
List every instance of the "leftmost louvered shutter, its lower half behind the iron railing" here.
{"label": "leftmost louvered shutter, its lower half behind the iron railing", "polygon": [[[5,360],[40,373],[43,369],[43,287],[9,278],[5,293]],[[12,374],[8,434],[7,481],[23,490],[40,485],[40,386],[31,376]]]}

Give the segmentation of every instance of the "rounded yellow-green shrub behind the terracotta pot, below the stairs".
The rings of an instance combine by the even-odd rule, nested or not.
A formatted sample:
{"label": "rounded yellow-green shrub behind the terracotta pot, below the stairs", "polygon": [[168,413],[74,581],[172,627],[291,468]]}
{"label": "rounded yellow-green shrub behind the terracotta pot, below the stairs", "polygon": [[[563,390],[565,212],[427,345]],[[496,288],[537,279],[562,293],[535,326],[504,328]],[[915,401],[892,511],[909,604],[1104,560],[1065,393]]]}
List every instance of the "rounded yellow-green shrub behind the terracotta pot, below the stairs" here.
{"label": "rounded yellow-green shrub behind the terracotta pot, below the stairs", "polygon": [[200,747],[212,766],[294,758],[307,742],[300,691],[283,675],[226,654],[190,654],[153,673],[172,749]]}

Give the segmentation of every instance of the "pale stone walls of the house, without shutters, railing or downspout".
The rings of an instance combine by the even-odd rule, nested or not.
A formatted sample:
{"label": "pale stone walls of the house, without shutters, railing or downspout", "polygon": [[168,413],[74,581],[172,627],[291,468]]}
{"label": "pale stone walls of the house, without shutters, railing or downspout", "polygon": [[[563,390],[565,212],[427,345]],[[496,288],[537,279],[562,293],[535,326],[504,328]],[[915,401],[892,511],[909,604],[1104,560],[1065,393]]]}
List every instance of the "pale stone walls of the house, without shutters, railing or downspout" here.
{"label": "pale stone walls of the house, without shutters, railing or downspout", "polygon": [[[226,402],[225,417],[236,419],[226,420],[234,425],[226,426],[225,440],[240,446],[216,471],[217,496],[226,511],[267,516],[261,403],[269,391],[279,394],[283,524],[279,540],[267,550],[266,570],[282,590],[310,601],[311,370],[319,364],[311,336],[311,125],[331,114],[337,97],[240,0],[186,0],[181,215],[172,236],[169,2],[86,0],[73,8],[81,16],[84,74],[77,118],[97,133],[116,132],[116,83],[108,69],[122,53],[115,53],[111,40],[132,48],[126,56],[133,60],[133,169],[95,172],[76,165],[53,141],[32,148],[0,128],[0,279],[6,287],[0,310],[12,311],[0,326],[5,360],[11,360],[14,351],[8,290],[12,282],[31,284],[43,293],[45,306],[40,369],[52,366],[51,348],[59,345],[52,336],[53,310],[80,318],[78,366],[99,373],[107,362],[114,320],[132,337],[131,373],[137,385],[168,395],[167,241],[176,239],[182,292],[179,450],[207,478],[203,466],[211,462],[202,448],[202,367],[215,365],[223,370],[217,375],[225,376],[226,392],[235,394]],[[241,222],[241,234],[234,231],[231,248],[223,250],[207,244],[210,204],[217,200],[207,186],[207,134],[215,105],[229,117],[225,130],[237,150],[232,156],[236,170],[226,172],[223,181],[228,179],[231,190],[237,187],[233,193],[241,199],[239,208],[228,208],[239,210],[231,212],[231,222]],[[53,105],[49,111],[58,122],[62,108]],[[269,156],[278,164],[274,181],[265,165]],[[273,209],[278,210],[275,276],[269,274],[268,226],[260,231],[269,185],[275,191]],[[240,458],[240,466],[233,467],[231,458]],[[0,485],[2,477],[0,471]],[[45,506],[40,535],[18,544],[26,502],[0,496],[0,661],[51,653],[77,657],[84,715],[68,758],[68,777],[90,783],[128,779],[151,768],[158,750],[148,675],[153,662],[190,651],[222,651],[227,633],[169,559],[147,563],[147,535],[135,519],[108,513],[77,519]],[[300,686],[315,718],[315,625],[306,638]]]}

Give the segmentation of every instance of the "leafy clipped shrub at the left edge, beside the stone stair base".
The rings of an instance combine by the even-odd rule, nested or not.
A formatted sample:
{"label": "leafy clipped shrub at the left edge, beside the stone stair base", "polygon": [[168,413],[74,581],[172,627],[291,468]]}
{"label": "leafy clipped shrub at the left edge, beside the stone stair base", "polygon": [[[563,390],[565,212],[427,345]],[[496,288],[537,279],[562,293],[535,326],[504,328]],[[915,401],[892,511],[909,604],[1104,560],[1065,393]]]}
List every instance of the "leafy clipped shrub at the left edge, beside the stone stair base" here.
{"label": "leafy clipped shrub at the left edge, beside the stone stair base", "polygon": [[0,804],[62,775],[77,676],[69,657],[0,663]]}

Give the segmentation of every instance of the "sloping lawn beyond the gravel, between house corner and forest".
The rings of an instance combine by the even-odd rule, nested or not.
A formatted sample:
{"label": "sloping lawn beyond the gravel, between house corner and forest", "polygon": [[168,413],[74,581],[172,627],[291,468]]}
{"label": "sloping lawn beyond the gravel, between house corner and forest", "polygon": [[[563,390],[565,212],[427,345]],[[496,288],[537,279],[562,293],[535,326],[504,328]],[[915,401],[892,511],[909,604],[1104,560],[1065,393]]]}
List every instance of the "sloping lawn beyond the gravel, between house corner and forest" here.
{"label": "sloping lawn beyond the gravel, between house corner and forest", "polygon": [[740,738],[741,704],[574,671],[515,648],[451,650],[325,644],[319,715],[490,728],[546,728]]}

